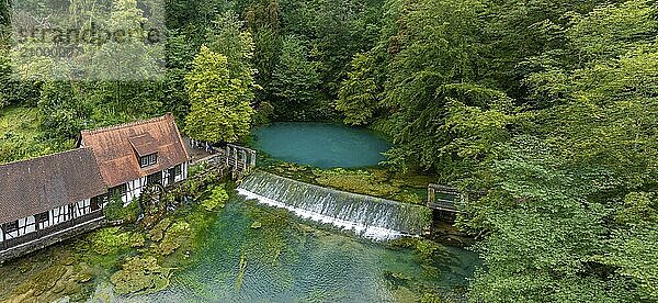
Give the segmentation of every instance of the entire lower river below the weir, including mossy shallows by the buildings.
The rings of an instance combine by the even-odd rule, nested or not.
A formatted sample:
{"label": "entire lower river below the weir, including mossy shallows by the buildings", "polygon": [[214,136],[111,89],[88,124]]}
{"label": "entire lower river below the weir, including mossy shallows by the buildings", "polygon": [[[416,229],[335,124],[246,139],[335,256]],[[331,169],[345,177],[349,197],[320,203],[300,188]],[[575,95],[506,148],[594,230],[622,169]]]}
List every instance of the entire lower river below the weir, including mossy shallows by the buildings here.
{"label": "entire lower river below the weir, including mossy shallows by the buildings", "polygon": [[171,214],[135,222],[135,204],[107,207],[127,224],[0,267],[0,301],[464,301],[478,263],[473,252],[430,240],[375,243],[299,220],[212,176],[183,188]]}

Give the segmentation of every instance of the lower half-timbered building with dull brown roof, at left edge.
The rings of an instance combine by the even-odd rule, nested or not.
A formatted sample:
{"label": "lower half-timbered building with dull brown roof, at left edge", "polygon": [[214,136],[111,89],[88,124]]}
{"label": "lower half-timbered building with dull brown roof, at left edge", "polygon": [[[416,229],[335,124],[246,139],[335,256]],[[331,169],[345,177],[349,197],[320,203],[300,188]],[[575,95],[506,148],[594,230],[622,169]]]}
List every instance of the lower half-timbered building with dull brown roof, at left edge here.
{"label": "lower half-timbered building with dull brown roof, at left edge", "polygon": [[89,148],[0,166],[0,251],[102,218],[106,192]]}

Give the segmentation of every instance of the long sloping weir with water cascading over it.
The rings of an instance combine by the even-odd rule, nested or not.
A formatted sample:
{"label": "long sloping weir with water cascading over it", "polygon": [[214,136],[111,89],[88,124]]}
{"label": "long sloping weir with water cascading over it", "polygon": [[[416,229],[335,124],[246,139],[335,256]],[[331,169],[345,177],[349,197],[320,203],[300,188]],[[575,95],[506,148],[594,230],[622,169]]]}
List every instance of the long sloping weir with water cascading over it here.
{"label": "long sloping weir with water cascading over it", "polygon": [[261,171],[247,177],[238,192],[377,240],[420,235],[431,223],[431,211],[421,205],[332,190]]}

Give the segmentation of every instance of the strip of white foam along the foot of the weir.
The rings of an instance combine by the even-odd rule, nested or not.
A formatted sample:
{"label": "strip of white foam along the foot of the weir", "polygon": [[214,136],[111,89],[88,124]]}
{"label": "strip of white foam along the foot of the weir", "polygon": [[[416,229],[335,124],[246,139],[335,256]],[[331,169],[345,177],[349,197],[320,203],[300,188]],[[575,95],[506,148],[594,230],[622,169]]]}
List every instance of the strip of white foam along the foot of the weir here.
{"label": "strip of white foam along the foot of the weir", "polygon": [[400,232],[397,232],[394,229],[388,229],[388,228],[383,228],[383,227],[377,227],[377,226],[366,226],[366,225],[354,223],[351,221],[340,220],[340,218],[322,215],[322,214],[319,214],[316,212],[296,209],[296,207],[286,205],[285,203],[281,203],[279,201],[272,200],[266,197],[262,197],[260,194],[250,192],[245,189],[237,189],[237,191],[239,194],[246,197],[249,200],[257,200],[258,202],[260,202],[262,204],[266,204],[266,205],[275,206],[275,207],[280,207],[280,209],[286,209],[302,218],[307,218],[307,220],[311,220],[311,221],[319,222],[319,223],[326,223],[326,224],[328,223],[328,224],[331,224],[339,228],[342,228],[343,231],[354,232],[364,238],[374,239],[374,240],[392,240],[392,239],[397,239],[402,236],[409,236],[407,234],[404,234],[404,233],[400,233]]}

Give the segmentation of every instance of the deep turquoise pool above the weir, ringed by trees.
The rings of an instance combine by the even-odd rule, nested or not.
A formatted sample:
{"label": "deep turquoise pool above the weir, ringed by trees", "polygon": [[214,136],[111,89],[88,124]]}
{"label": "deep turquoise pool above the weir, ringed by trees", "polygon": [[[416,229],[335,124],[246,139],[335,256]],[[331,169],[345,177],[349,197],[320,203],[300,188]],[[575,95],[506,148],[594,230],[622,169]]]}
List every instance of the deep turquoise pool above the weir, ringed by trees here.
{"label": "deep turquoise pool above the weir, ringed by trees", "polygon": [[274,123],[253,131],[271,157],[319,168],[376,166],[390,143],[375,132],[331,123]]}

